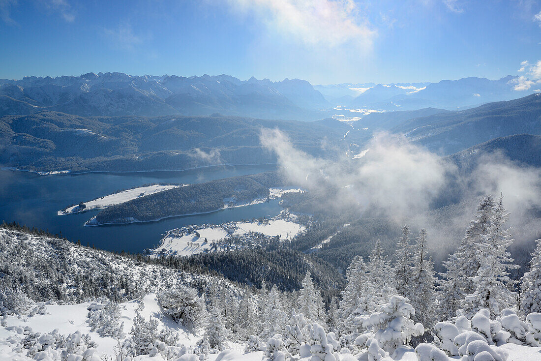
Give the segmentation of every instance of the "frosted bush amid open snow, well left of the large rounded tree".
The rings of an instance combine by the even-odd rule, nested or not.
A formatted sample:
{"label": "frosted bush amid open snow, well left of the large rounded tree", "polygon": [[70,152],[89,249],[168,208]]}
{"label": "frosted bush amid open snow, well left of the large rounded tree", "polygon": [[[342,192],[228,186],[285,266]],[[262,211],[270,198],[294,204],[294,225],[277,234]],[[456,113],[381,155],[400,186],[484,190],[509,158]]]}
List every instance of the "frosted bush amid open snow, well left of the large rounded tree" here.
{"label": "frosted bush amid open snow, well left of the large rounded tree", "polygon": [[124,323],[118,323],[121,312],[120,306],[109,300],[104,303],[93,302],[87,307],[87,323],[90,330],[97,332],[101,337],[124,338]]}

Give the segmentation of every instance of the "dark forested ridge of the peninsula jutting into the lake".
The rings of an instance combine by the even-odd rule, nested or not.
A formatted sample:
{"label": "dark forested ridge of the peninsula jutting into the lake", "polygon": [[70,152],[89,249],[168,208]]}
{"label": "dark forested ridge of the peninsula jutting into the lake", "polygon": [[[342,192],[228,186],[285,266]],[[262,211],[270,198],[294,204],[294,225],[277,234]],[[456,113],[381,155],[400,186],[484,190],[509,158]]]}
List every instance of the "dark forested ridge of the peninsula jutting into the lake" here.
{"label": "dark forested ridge of the peninsula jutting into the lake", "polygon": [[269,195],[269,188],[286,185],[279,172],[265,172],[168,189],[108,207],[91,225],[153,221],[176,215],[218,211],[226,204],[249,204]]}

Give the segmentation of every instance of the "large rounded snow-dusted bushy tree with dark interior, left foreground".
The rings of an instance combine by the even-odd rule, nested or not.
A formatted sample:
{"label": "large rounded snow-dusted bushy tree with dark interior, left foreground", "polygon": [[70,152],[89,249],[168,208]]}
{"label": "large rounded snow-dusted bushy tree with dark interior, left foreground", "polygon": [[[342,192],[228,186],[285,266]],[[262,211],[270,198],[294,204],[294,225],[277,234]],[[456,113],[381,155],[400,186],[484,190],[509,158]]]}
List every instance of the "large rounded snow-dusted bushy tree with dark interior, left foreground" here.
{"label": "large rounded snow-dusted bushy tree with dark interior, left foreground", "polygon": [[158,304],[163,313],[168,314],[189,330],[202,326],[205,317],[204,299],[197,295],[192,287],[180,286],[163,291],[158,296]]}

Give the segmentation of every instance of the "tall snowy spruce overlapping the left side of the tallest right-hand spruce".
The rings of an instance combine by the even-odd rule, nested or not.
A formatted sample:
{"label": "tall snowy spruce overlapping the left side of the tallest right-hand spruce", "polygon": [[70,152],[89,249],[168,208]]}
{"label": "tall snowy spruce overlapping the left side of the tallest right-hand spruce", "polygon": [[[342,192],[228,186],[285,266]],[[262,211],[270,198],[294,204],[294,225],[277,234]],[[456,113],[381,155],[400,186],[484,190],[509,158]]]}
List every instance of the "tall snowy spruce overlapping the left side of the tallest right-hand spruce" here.
{"label": "tall snowy spruce overlapping the left side of the tallest right-hand spruce", "polygon": [[493,219],[494,206],[496,202],[491,195],[485,196],[476,208],[476,215],[467,227],[464,238],[460,242],[457,251],[454,253],[457,258],[460,270],[460,288],[464,294],[473,293],[475,285],[473,278],[479,270],[479,258],[477,251],[481,242],[485,241],[487,232]]}

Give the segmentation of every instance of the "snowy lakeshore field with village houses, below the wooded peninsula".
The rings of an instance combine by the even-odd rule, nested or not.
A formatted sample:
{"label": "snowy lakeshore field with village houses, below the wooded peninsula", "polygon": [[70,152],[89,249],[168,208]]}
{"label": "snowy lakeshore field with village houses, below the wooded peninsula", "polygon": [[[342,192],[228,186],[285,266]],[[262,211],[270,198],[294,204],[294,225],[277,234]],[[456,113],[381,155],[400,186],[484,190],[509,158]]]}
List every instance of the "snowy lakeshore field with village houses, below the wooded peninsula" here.
{"label": "snowy lakeshore field with village houses, below the wooded peninsula", "polygon": [[[188,229],[188,227],[184,228]],[[162,244],[151,252],[188,256],[209,252],[213,247],[216,247],[216,250],[225,250],[229,246],[228,239],[236,235],[248,236],[250,233],[261,233],[269,237],[279,235],[281,239],[292,239],[305,229],[298,223],[283,219],[271,219],[263,223],[227,222],[216,226],[193,226],[193,228],[193,231],[182,228],[169,231]]]}

